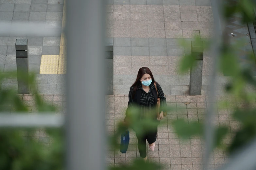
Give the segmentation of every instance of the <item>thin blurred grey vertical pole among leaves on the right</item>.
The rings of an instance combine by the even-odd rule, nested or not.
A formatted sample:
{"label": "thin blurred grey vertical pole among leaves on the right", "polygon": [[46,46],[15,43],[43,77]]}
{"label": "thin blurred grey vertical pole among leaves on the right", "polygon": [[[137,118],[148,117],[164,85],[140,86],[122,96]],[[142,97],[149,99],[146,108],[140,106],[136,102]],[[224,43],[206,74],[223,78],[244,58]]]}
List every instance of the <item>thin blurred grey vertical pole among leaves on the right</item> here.
{"label": "thin blurred grey vertical pole among leaves on the right", "polygon": [[210,100],[209,106],[207,106],[207,114],[205,119],[205,154],[203,156],[203,166],[204,170],[207,169],[207,164],[209,161],[210,154],[213,148],[213,139],[214,139],[214,126],[213,126],[213,113],[215,111],[215,92],[216,92],[216,73],[217,73],[217,65],[219,61],[220,55],[220,46],[221,46],[221,6],[220,0],[211,0],[212,10],[213,10],[213,18],[214,18],[214,36],[213,36],[213,44],[212,44],[212,58],[213,58],[213,73],[210,76]]}

